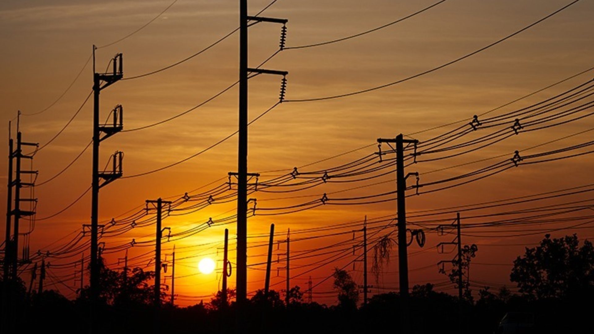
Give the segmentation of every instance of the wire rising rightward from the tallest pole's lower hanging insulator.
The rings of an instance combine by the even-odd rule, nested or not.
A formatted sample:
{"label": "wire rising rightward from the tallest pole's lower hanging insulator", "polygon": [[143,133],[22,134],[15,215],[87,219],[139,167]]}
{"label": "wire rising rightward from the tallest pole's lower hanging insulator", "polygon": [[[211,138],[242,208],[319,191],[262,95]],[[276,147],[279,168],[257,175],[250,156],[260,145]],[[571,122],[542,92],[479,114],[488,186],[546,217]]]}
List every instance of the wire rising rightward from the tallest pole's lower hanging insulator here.
{"label": "wire rising rightward from the tallest pole's lower hanging insulator", "polygon": [[495,45],[497,45],[497,44],[499,44],[499,43],[501,43],[501,42],[504,42],[505,40],[507,40],[507,39],[510,39],[511,37],[513,37],[513,36],[516,36],[516,35],[517,35],[517,34],[519,34],[519,33],[522,33],[522,31],[525,31],[525,30],[527,30],[527,29],[530,29],[531,27],[533,27],[533,26],[536,26],[536,24],[539,24],[539,23],[541,23],[542,21],[544,21],[544,20],[546,20],[546,19],[548,19],[548,18],[550,18],[550,17],[554,16],[555,14],[558,14],[559,12],[561,12],[561,11],[565,10],[565,8],[568,8],[568,7],[570,7],[571,5],[573,5],[573,4],[575,4],[576,2],[579,2],[579,1],[580,1],[580,0],[574,0],[574,1],[570,2],[569,4],[565,5],[564,7],[561,7],[560,9],[558,9],[558,10],[556,10],[556,11],[552,12],[551,14],[548,14],[548,15],[546,15],[545,17],[541,18],[540,20],[538,20],[538,21],[536,21],[536,22],[534,22],[534,23],[532,23],[532,24],[529,24],[529,25],[528,25],[528,26],[526,26],[526,27],[523,27],[522,29],[520,29],[520,30],[517,30],[516,32],[514,32],[514,33],[512,33],[512,34],[510,34],[510,35],[508,35],[508,36],[505,36],[505,37],[503,37],[502,39],[500,39],[500,40],[497,40],[496,42],[493,42],[493,43],[491,43],[491,44],[489,44],[489,45],[487,45],[487,46],[484,46],[483,48],[481,48],[481,49],[478,49],[478,50],[476,50],[476,51],[473,51],[473,52],[467,53],[466,55],[464,55],[464,56],[461,56],[460,58],[454,59],[453,61],[446,62],[445,64],[443,64],[443,65],[440,65],[440,66],[438,66],[438,67],[434,67],[434,68],[432,68],[431,70],[426,70],[426,71],[424,71],[424,72],[421,72],[421,73],[418,73],[418,74],[415,74],[415,75],[411,75],[410,77],[406,77],[406,78],[403,78],[403,79],[400,79],[400,80],[397,80],[397,81],[393,81],[393,82],[391,82],[391,83],[383,84],[383,85],[381,85],[381,86],[376,86],[376,87],[372,87],[372,88],[369,88],[369,89],[358,90],[358,91],[356,91],[356,92],[345,93],[345,94],[339,94],[339,95],[333,95],[333,96],[324,96],[324,97],[311,97],[311,98],[309,98],[309,99],[295,99],[295,100],[285,100],[285,102],[311,102],[311,101],[321,101],[321,100],[331,100],[331,99],[337,99],[337,98],[339,98],[339,97],[347,97],[347,96],[353,96],[353,95],[357,95],[357,94],[362,94],[362,93],[368,93],[368,92],[372,92],[372,91],[374,91],[374,90],[383,89],[383,88],[386,88],[386,87],[393,86],[393,85],[395,85],[395,84],[403,83],[403,82],[405,82],[405,81],[408,81],[408,80],[412,80],[412,79],[414,79],[414,78],[421,77],[422,75],[425,75],[425,74],[432,73],[432,72],[434,72],[434,71],[440,70],[441,68],[447,67],[447,66],[449,66],[449,65],[452,65],[452,64],[456,64],[457,62],[459,62],[459,61],[462,61],[463,59],[466,59],[466,58],[469,58],[470,56],[476,55],[476,53],[479,53],[479,52],[485,51],[486,49],[489,49],[489,48],[491,48],[492,46],[495,46]]}

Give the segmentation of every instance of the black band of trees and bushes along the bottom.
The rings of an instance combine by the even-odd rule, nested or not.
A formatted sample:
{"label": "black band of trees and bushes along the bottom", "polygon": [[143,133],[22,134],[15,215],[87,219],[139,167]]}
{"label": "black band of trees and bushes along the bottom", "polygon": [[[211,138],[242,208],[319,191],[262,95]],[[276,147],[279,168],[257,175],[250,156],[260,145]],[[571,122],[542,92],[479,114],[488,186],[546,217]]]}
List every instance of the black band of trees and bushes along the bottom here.
{"label": "black band of trees and bushes along the bottom", "polygon": [[[467,252],[469,259],[472,249]],[[134,268],[115,272],[102,266],[99,307],[102,333],[151,333],[157,316],[153,301],[153,272]],[[289,304],[279,292],[258,290],[242,316],[247,328],[238,329],[235,291],[222,292],[210,301],[189,307],[168,303],[166,287],[159,310],[162,333],[373,333],[397,332],[399,294],[372,295],[368,304],[359,303],[359,289],[349,273],[334,269],[336,305],[306,303],[299,286],[289,290]],[[590,326],[587,313],[594,297],[594,248],[585,241],[580,247],[576,235],[551,239],[526,248],[514,261],[511,281],[519,293],[504,287],[485,286],[470,298],[435,291],[434,285],[415,285],[410,291],[410,322],[414,333],[497,333],[505,313],[521,311],[535,316],[536,332],[575,332]],[[12,295],[8,308],[18,332],[81,333],[88,331],[89,291],[67,300],[54,290],[27,291],[23,281],[0,282]],[[6,288],[6,289],[4,289]],[[307,294],[307,292],[306,292]],[[6,310],[3,310],[3,312]],[[10,328],[9,328],[10,329]],[[3,330],[10,332],[10,330]]]}

